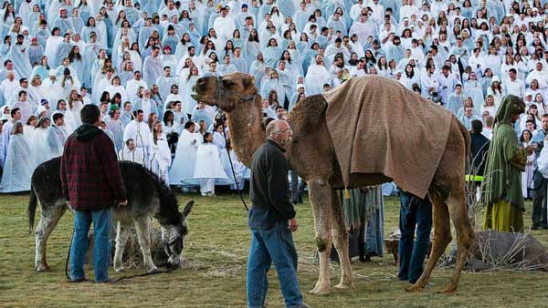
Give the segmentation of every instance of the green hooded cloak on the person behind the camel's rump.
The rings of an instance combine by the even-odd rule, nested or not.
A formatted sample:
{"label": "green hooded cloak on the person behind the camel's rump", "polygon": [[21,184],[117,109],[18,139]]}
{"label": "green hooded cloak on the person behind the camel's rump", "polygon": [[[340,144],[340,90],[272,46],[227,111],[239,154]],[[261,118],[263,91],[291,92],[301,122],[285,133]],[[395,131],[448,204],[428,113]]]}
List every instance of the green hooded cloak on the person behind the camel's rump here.
{"label": "green hooded cloak on the person behind the camel's rump", "polygon": [[495,129],[490,141],[485,174],[481,183],[487,206],[499,201],[510,203],[516,210],[525,210],[522,193],[522,171],[527,155],[519,149],[518,136],[511,123],[512,114],[525,111],[520,98],[508,95],[495,117]]}

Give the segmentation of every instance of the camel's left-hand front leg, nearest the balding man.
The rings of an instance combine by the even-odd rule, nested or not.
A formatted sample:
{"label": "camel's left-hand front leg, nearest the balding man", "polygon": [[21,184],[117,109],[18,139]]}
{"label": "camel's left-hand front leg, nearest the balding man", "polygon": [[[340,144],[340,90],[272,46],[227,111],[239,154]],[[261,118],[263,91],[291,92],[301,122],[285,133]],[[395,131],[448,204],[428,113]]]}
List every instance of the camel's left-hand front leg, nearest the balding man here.
{"label": "camel's left-hand front leg, nearest the balding man", "polygon": [[316,246],[320,257],[320,275],[316,286],[310,293],[329,293],[331,282],[329,278],[329,252],[332,248],[332,190],[319,180],[309,182],[309,195],[314,213],[314,228],[316,231]]}

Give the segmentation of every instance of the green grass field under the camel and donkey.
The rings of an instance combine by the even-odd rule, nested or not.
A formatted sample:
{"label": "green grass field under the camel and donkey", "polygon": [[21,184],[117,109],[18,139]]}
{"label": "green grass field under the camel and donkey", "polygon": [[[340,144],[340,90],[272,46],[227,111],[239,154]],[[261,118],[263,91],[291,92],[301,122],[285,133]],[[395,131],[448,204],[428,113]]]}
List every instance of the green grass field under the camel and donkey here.
{"label": "green grass field under the camel and donkey", "polygon": [[[47,247],[49,272],[34,272],[34,234],[26,222],[28,195],[0,196],[0,307],[244,307],[249,231],[247,214],[235,195],[178,196],[180,203],[196,201],[189,218],[184,256],[188,265],[179,271],[125,280],[117,284],[68,283],[65,257],[72,231],[66,214]],[[317,279],[310,204],[298,207],[300,229],[295,233],[299,250],[299,277],[303,292]],[[385,234],[397,228],[397,199],[386,200]],[[530,223],[528,203],[526,224]],[[38,216],[38,214],[37,214]],[[38,216],[39,217],[39,216]],[[548,231],[532,231],[548,245]],[[142,272],[124,272],[123,275]],[[355,289],[333,290],[329,295],[305,293],[312,307],[548,307],[548,274],[539,272],[463,272],[458,292],[438,294],[451,269],[436,270],[433,286],[422,293],[406,293],[398,282],[392,256],[373,262],[353,262]],[[111,272],[116,278],[120,273]],[[88,271],[92,278],[92,271]],[[332,266],[332,285],[339,269]],[[269,307],[283,307],[275,271],[269,274]]]}

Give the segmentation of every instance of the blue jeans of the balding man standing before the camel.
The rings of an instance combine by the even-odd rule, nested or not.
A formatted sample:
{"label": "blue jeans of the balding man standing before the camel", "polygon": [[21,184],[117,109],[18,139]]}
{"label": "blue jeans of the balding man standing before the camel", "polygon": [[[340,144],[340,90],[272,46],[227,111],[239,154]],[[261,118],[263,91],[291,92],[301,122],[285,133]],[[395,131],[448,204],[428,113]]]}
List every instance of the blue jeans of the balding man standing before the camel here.
{"label": "blue jeans of the balding man standing before the camel", "polygon": [[278,222],[269,229],[251,229],[248,258],[248,307],[262,307],[267,298],[267,273],[274,262],[279,287],[287,307],[300,307],[302,294],[297,278],[297,250],[288,224]]}

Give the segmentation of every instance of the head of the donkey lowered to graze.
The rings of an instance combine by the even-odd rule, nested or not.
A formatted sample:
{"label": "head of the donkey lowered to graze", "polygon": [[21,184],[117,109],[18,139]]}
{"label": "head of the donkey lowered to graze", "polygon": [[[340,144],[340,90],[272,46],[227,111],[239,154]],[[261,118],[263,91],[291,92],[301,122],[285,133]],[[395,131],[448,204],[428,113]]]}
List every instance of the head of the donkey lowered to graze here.
{"label": "head of the donkey lowered to graze", "polygon": [[183,264],[184,238],[188,234],[186,219],[194,206],[194,201],[189,201],[184,210],[177,210],[176,217],[167,223],[162,223],[163,251],[167,254],[167,262],[172,267],[180,267]]}

